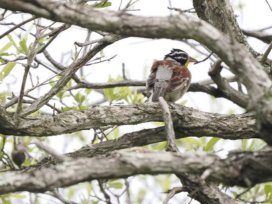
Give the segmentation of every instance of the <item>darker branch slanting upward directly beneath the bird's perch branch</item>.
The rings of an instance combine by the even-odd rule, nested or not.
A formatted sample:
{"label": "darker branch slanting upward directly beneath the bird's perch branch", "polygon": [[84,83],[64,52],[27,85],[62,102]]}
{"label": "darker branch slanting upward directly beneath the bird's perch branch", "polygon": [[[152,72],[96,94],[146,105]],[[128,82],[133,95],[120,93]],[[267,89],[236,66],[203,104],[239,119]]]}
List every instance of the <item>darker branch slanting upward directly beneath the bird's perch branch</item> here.
{"label": "darker branch slanting upward directly beneath the bird's perch branch", "polygon": [[[188,127],[187,125],[180,125],[174,128],[175,136],[176,139],[186,138],[192,135],[198,138],[213,136],[229,140],[236,140],[237,138],[259,138],[260,136],[257,132],[255,132],[256,130],[254,130],[256,129],[256,127],[254,123],[252,124],[252,120],[254,121],[254,119],[250,119],[246,115],[240,115],[239,117],[244,118],[244,123],[246,124],[246,122],[248,122],[248,124],[244,124],[242,127],[238,124],[234,125],[236,121],[235,118],[231,120],[224,118],[222,123],[219,121],[207,122],[206,125],[203,126],[199,125],[198,123],[192,123],[190,127]],[[201,120],[201,118],[199,120]],[[214,126],[216,126],[216,128],[213,128]],[[148,144],[154,144],[163,141],[166,141],[164,127],[143,129],[140,131],[126,133],[114,140],[102,141],[97,144],[87,145],[86,147],[82,147],[75,152],[67,153],[66,156],[72,157],[74,159],[94,157],[95,155],[105,154],[113,150],[145,146]],[[44,158],[37,164],[31,165],[29,167],[24,167],[24,169],[21,169],[21,171],[24,172],[48,168],[58,163],[59,161],[54,159],[53,157],[50,157],[50,159]]]}

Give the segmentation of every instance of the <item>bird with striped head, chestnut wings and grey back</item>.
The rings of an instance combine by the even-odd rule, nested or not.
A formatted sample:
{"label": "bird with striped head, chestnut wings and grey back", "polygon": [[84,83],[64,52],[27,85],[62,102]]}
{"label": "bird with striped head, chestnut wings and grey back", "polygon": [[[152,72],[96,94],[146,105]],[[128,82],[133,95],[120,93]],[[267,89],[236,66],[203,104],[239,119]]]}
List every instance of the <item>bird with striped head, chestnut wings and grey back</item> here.
{"label": "bird with striped head, chestnut wings and grey back", "polygon": [[146,81],[147,102],[158,101],[160,96],[170,102],[180,99],[191,84],[190,62],[197,60],[185,51],[174,48],[163,60],[154,60]]}

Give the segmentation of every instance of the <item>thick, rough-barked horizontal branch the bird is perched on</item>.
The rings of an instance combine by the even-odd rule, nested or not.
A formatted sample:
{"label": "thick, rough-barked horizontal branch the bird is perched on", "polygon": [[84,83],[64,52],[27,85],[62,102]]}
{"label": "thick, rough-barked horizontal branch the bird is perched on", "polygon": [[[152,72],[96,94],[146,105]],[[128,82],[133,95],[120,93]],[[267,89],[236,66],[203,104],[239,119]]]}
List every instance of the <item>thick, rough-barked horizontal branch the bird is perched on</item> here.
{"label": "thick, rough-barked horizontal branch the bird is perched on", "polygon": [[[174,103],[169,104],[174,127],[181,130],[186,129],[190,134],[196,134],[196,137],[197,135],[213,137],[225,135],[228,137],[229,133],[235,135],[234,130],[237,131],[235,139],[245,137],[242,136],[243,134],[249,138],[260,137],[257,134],[256,121],[250,114],[206,113]],[[134,125],[150,121],[163,121],[158,103],[93,106],[86,110],[69,111],[53,116],[29,116],[21,118],[18,125],[14,125],[15,121],[12,119],[12,115],[0,106],[1,134],[42,137],[106,125]]]}

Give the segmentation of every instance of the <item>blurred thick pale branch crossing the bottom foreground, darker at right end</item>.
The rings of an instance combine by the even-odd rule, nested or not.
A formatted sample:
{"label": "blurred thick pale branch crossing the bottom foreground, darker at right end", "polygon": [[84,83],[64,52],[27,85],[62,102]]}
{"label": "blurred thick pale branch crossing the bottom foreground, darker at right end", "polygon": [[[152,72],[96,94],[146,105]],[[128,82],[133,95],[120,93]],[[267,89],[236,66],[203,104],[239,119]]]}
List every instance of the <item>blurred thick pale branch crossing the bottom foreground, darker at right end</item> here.
{"label": "blurred thick pale branch crossing the bottom foreground, darker at right end", "polygon": [[27,173],[5,173],[0,178],[0,194],[18,191],[42,193],[94,179],[125,178],[135,174],[201,175],[208,168],[214,172],[207,177],[207,181],[222,182],[229,186],[252,186],[272,181],[271,154],[236,152],[221,159],[206,152],[169,154],[134,147],[112,151],[107,155],[64,162],[55,168]]}

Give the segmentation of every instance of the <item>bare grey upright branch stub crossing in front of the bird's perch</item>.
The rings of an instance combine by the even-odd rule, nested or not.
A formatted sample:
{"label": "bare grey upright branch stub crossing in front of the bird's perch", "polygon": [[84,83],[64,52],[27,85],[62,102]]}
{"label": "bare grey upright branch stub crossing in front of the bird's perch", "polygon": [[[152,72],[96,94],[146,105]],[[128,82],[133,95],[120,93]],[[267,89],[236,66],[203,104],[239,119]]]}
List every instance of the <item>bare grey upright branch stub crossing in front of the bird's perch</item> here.
{"label": "bare grey upright branch stub crossing in front of the bird's perch", "polygon": [[180,152],[176,146],[176,141],[175,141],[176,138],[175,138],[175,131],[173,128],[173,121],[171,118],[171,113],[167,105],[167,102],[161,96],[159,97],[159,102],[163,112],[164,123],[165,123],[164,128],[165,128],[166,139],[167,139],[167,145],[166,145],[165,151]]}

